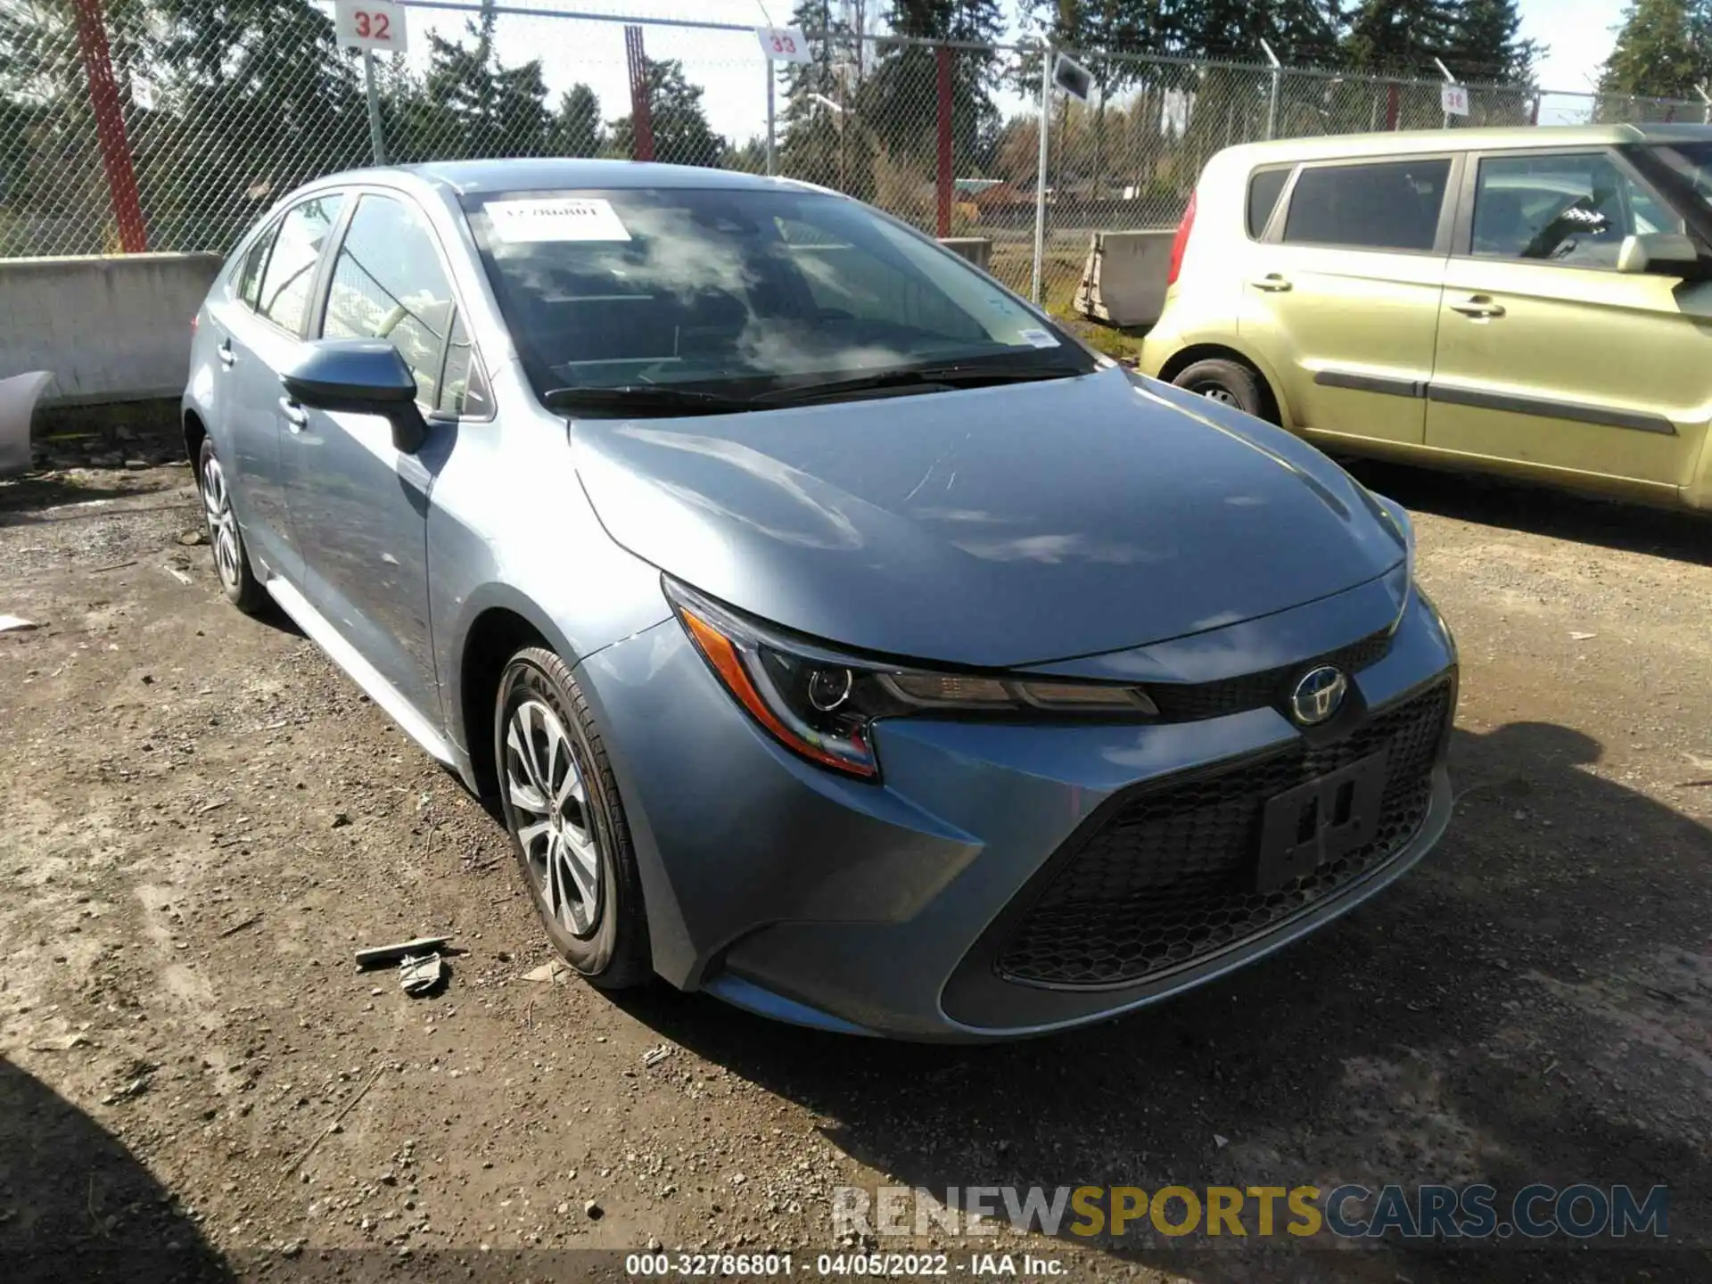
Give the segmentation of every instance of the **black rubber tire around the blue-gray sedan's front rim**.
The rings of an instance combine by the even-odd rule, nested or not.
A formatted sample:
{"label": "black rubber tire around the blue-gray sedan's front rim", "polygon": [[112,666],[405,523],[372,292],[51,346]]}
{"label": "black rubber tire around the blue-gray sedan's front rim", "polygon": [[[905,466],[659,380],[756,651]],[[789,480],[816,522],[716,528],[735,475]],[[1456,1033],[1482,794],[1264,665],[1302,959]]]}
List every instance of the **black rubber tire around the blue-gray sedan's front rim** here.
{"label": "black rubber tire around the blue-gray sedan's front rim", "polygon": [[[556,729],[543,724],[539,709],[524,714],[531,726],[539,728],[539,738],[532,740],[536,757],[541,764],[531,776],[517,752],[508,745],[512,719],[524,705],[544,705],[556,719],[558,729],[565,733],[563,743],[570,750],[570,764],[577,770],[584,798],[567,798],[562,806],[551,808],[550,789],[539,791],[538,798],[551,808],[531,811],[512,800],[514,776],[527,782],[546,769],[555,782],[567,781],[553,770],[548,748],[556,741]],[[519,724],[519,734],[526,733]],[[625,820],[625,808],[618,798],[618,782],[613,779],[613,767],[606,757],[606,745],[594,728],[589,714],[589,702],[584,698],[572,676],[570,668],[544,647],[524,647],[500,675],[498,693],[493,700],[493,764],[498,776],[500,806],[505,811],[505,829],[512,835],[512,853],[517,866],[529,887],[536,912],[546,928],[553,947],[565,960],[582,972],[591,983],[603,990],[623,990],[644,984],[654,974],[649,938],[647,912],[642,902],[642,878],[637,873],[635,847],[630,842],[630,825]],[[539,827],[556,818],[558,829],[531,839],[526,846],[524,827]],[[594,887],[592,911],[580,890],[567,897],[558,892],[562,909],[551,902],[555,889],[550,887],[553,871],[560,871],[556,887],[565,889],[565,880],[572,880],[572,889],[579,889],[568,873],[565,861],[574,859],[563,854],[565,835],[592,835],[597,858],[599,878]],[[555,854],[553,842],[562,846]],[[555,866],[555,861],[558,865]],[[582,912],[587,923],[579,930],[570,916]],[[562,916],[563,912],[563,916]]]}

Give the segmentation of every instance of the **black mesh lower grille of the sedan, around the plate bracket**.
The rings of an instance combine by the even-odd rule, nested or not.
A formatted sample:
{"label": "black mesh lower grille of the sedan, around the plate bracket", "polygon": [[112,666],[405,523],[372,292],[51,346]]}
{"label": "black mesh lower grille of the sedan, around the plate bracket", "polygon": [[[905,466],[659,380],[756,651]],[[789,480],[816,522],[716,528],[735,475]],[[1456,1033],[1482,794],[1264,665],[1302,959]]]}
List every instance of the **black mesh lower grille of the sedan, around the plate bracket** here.
{"label": "black mesh lower grille of the sedan, around the plate bracket", "polygon": [[[1000,974],[1044,986],[1140,981],[1275,928],[1376,870],[1426,818],[1450,700],[1443,681],[1335,745],[1138,786],[1060,858],[1000,950]],[[1380,750],[1387,764],[1375,841],[1270,892],[1255,890],[1265,801]]]}

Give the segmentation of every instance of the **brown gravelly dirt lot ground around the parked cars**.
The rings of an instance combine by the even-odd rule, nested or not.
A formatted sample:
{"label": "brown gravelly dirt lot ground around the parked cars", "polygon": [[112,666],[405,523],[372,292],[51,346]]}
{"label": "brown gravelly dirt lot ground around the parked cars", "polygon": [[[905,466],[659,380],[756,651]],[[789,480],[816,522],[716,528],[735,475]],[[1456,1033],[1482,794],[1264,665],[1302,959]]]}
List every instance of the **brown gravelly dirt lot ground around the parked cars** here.
{"label": "brown gravelly dirt lot ground around the parked cars", "polygon": [[[1462,644],[1443,847],[1193,996],[984,1049],[524,979],[550,955],[503,832],[224,603],[180,541],[188,469],[0,486],[0,615],[41,625],[0,635],[0,1274],[582,1277],[621,1260],[544,1250],[834,1248],[841,1185],[1484,1178],[1667,1183],[1702,1248],[979,1248],[1077,1279],[1705,1279],[1712,527],[1368,476],[1419,514]],[[353,969],[423,931],[466,950],[443,995]]]}

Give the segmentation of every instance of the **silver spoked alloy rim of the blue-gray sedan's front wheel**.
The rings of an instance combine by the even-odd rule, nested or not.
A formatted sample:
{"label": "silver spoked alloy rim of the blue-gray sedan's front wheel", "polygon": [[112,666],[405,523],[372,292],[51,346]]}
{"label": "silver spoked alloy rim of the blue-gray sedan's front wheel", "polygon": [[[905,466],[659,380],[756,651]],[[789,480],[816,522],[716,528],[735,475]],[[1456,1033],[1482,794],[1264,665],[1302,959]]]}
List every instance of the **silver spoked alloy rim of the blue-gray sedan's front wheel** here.
{"label": "silver spoked alloy rim of the blue-gray sedan's front wheel", "polygon": [[601,851],[565,724],[527,698],[505,726],[505,793],[536,895],[574,936],[601,921]]}

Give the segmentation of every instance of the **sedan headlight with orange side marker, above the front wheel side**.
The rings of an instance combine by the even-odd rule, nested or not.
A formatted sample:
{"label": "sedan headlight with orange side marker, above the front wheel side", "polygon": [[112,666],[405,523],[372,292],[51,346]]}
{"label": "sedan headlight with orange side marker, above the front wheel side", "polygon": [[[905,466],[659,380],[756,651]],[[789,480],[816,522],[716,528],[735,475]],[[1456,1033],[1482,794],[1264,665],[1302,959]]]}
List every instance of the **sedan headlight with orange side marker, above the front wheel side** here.
{"label": "sedan headlight with orange side marker, above the front wheel side", "polygon": [[671,579],[661,584],[690,640],[750,717],[791,752],[851,776],[878,777],[873,724],[882,717],[1159,712],[1135,687],[933,673],[844,656],[740,618]]}

